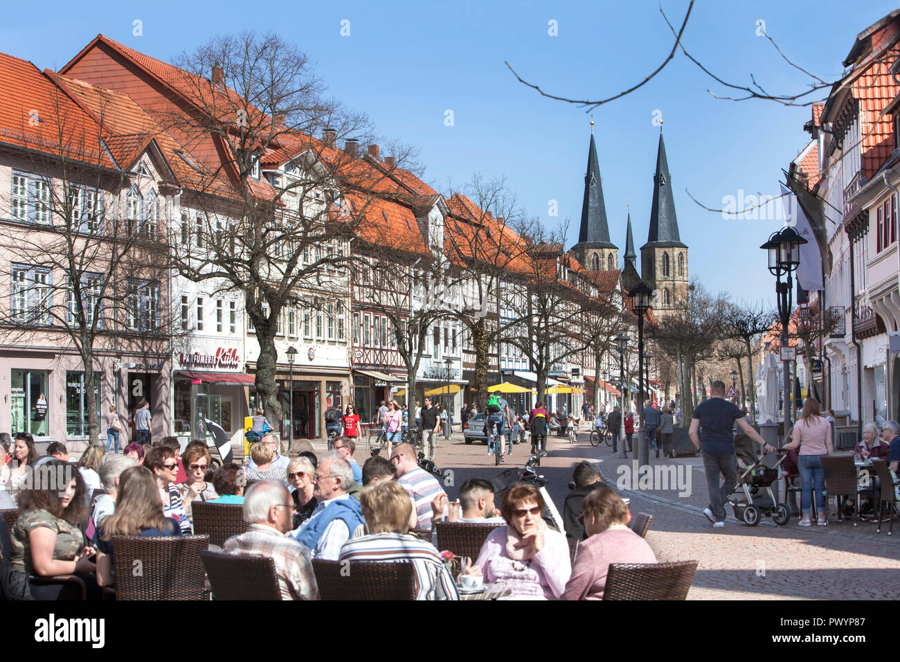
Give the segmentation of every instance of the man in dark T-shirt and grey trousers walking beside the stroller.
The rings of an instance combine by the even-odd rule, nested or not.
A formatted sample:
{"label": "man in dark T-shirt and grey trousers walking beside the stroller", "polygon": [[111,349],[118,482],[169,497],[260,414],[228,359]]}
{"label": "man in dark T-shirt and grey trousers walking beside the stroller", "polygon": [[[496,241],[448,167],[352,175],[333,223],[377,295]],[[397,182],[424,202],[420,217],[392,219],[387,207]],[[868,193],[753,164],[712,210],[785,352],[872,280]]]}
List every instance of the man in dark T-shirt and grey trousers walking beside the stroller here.
{"label": "man in dark T-shirt and grey trousers walking beside the stroller", "polygon": [[[707,472],[709,505],[703,511],[716,528],[725,526],[725,499],[737,485],[737,458],[734,456],[734,422],[752,440],[761,444],[763,453],[775,450],[759,432],[753,430],[740,407],[725,400],[725,382],[716,379],[711,397],[697,405],[688,431],[690,440],[703,455]],[[719,485],[719,476],[724,483]]]}

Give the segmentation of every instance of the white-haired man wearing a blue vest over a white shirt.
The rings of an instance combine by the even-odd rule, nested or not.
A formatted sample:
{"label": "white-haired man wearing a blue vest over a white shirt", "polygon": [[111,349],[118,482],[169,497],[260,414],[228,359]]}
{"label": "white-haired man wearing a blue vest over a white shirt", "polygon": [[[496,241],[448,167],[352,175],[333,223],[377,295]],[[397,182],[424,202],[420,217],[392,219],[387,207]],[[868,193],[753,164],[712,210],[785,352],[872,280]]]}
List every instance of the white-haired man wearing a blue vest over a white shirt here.
{"label": "white-haired man wearing a blue vest over a white shirt", "polygon": [[337,561],[350,534],[365,523],[359,502],[347,494],[353,469],[338,453],[326,453],[312,480],[312,495],[319,503],[310,519],[293,531],[293,538],[310,550],[312,558]]}

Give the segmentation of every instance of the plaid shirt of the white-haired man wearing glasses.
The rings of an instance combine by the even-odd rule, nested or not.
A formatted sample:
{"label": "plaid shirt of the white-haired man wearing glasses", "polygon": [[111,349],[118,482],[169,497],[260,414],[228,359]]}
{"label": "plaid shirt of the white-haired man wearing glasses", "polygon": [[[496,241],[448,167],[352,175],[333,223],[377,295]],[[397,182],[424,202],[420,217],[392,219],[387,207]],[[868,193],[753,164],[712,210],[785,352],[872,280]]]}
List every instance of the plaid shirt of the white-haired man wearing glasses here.
{"label": "plaid shirt of the white-haired man wearing glasses", "polygon": [[225,540],[222,551],[245,557],[272,558],[282,600],[319,600],[310,551],[271,526],[250,524],[247,533]]}

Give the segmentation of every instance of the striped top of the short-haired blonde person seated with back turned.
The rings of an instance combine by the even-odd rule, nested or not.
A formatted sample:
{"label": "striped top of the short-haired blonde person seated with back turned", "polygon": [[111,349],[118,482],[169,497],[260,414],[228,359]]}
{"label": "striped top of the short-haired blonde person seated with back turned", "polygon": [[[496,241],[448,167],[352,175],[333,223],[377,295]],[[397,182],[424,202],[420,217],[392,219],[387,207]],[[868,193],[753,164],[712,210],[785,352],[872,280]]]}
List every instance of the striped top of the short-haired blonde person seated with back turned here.
{"label": "striped top of the short-haired blonde person seated with back turned", "polygon": [[340,550],[341,561],[409,561],[415,568],[417,600],[459,600],[453,576],[437,549],[402,533],[372,533],[348,540]]}

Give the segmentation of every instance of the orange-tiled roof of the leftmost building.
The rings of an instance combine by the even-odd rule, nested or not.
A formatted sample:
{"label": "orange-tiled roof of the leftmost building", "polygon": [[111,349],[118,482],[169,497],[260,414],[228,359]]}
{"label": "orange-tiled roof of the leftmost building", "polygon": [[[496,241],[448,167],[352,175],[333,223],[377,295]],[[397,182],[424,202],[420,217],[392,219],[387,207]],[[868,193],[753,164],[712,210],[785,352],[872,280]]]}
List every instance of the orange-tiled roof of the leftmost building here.
{"label": "orange-tiled roof of the leftmost building", "polygon": [[31,62],[0,53],[0,143],[115,168],[100,126]]}

